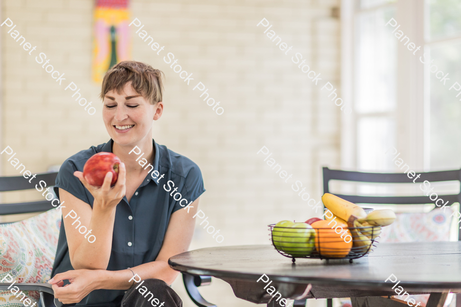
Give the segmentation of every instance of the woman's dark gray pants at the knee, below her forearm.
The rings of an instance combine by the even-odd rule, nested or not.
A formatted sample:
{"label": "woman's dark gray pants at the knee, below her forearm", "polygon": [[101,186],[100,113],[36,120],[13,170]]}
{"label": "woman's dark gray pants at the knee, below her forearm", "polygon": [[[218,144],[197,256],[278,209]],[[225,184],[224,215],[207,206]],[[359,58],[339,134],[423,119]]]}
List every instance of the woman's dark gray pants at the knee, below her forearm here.
{"label": "woman's dark gray pants at the knee, below her forearm", "polygon": [[[179,295],[163,280],[145,279],[139,287],[138,285],[139,283],[135,283],[125,293],[121,301],[121,307],[182,307],[182,300]],[[146,288],[147,290],[144,291]],[[164,304],[162,304],[163,302]]]}

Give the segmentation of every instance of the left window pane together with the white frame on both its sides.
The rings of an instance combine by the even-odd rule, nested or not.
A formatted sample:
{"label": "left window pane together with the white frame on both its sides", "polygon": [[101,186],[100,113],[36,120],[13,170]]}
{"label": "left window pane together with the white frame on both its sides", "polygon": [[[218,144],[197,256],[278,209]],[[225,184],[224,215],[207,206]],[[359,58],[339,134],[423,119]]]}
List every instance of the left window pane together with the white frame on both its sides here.
{"label": "left window pane together with the white frame on both its sides", "polygon": [[344,169],[397,172],[385,155],[391,147],[412,169],[428,166],[424,65],[392,33],[395,26],[386,26],[394,18],[423,55],[423,8],[416,1],[343,1],[341,90],[353,105],[350,118],[342,115]]}

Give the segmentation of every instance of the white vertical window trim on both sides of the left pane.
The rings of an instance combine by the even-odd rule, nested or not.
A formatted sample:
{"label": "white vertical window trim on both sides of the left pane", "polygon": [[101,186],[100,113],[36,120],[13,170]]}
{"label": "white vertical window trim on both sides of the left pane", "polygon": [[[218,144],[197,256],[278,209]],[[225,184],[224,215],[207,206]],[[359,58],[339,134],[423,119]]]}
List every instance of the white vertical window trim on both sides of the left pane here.
{"label": "white vertical window trim on both sides of the left pane", "polygon": [[[354,105],[354,5],[351,0],[341,3],[341,95]],[[416,46],[424,47],[424,2],[398,1],[397,23]],[[387,6],[387,5],[386,5]],[[384,6],[380,6],[384,7]],[[383,25],[384,26],[384,25]],[[397,39],[397,38],[395,38]],[[397,44],[396,82],[396,148],[414,169],[429,166],[429,97],[425,92],[424,65],[403,43]],[[426,95],[426,96],[425,96]],[[357,169],[357,120],[354,109],[341,115],[341,167]],[[426,136],[426,138],[425,138]]]}

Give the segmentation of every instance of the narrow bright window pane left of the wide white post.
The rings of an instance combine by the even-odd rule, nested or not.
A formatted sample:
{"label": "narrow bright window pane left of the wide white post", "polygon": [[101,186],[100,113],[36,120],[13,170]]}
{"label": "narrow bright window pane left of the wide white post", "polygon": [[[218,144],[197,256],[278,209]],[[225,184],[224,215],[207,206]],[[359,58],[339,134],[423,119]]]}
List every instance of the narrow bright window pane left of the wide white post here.
{"label": "narrow bright window pane left of the wide white post", "polygon": [[[357,119],[358,170],[389,170],[385,152],[394,144],[396,40],[384,27],[395,16],[384,0],[362,0],[354,13],[353,101]],[[384,4],[384,5],[383,5]]]}

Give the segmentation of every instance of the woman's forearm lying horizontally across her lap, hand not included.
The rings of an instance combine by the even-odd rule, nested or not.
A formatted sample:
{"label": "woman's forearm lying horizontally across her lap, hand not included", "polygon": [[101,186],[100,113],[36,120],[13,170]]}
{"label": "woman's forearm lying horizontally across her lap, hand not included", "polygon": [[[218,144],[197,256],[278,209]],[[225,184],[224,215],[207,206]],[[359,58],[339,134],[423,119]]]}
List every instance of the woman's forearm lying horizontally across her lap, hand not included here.
{"label": "woman's forearm lying horizontally across her lap, hand not included", "polygon": [[[161,260],[148,262],[146,264],[130,268],[130,270],[99,270],[100,277],[98,278],[97,289],[127,290],[136,283],[135,281],[149,278],[161,279],[167,284],[172,284],[176,279],[176,276],[179,274],[179,272],[170,268],[165,261]],[[135,275],[133,278],[133,274],[137,274],[137,276]],[[130,279],[131,281],[129,281]]]}

